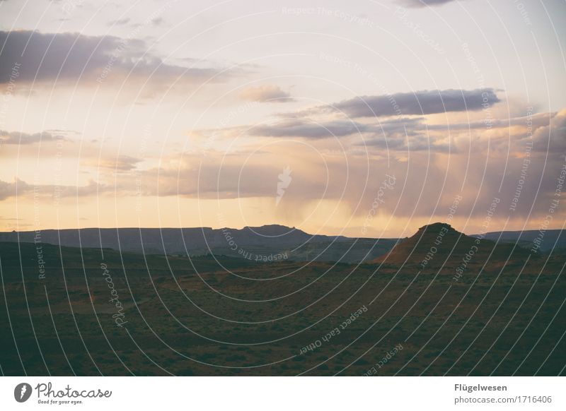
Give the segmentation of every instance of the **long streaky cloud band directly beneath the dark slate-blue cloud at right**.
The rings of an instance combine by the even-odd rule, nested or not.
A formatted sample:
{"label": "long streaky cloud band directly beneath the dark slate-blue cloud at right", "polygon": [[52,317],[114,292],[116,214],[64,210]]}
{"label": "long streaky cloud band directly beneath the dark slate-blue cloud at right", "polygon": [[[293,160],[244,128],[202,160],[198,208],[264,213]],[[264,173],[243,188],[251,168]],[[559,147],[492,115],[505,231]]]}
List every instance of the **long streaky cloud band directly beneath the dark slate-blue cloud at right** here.
{"label": "long streaky cloud band directly beneath the dark slate-blue cloud at right", "polygon": [[[504,111],[500,114],[507,114]],[[267,124],[197,129],[192,135],[199,136],[204,146],[219,139],[242,139],[246,143],[246,138],[288,138],[310,140],[323,150],[340,139],[346,150],[352,153],[368,150],[371,155],[392,152],[396,152],[393,155],[403,155],[419,151],[481,155],[491,150],[516,156],[524,153],[526,138],[533,141],[533,150],[546,151],[550,147],[549,156],[555,157],[566,150],[566,110],[512,118],[497,118],[492,114],[497,114],[497,110],[489,117],[483,112],[361,121],[291,117]]]}

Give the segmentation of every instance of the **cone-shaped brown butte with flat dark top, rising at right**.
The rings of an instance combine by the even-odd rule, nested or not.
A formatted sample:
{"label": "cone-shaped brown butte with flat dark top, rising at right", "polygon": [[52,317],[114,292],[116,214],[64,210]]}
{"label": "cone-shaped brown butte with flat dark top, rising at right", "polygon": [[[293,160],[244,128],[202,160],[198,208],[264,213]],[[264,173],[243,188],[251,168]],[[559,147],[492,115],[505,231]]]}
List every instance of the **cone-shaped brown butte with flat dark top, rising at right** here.
{"label": "cone-shaped brown butte with flat dark top, rising at right", "polygon": [[517,258],[526,258],[528,251],[513,244],[497,244],[490,239],[470,237],[454,230],[444,222],[424,225],[412,236],[401,240],[387,254],[374,263],[396,266],[417,265],[419,268],[455,266],[466,268],[472,264],[483,264],[490,259],[492,265],[514,263]]}

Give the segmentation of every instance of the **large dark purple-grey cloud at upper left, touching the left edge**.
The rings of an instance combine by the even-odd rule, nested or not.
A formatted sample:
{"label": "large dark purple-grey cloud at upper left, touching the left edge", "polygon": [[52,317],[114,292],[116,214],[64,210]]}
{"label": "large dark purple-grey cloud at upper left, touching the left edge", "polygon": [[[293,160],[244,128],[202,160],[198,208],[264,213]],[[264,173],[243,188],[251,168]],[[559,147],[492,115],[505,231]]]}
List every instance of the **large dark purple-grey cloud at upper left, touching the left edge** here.
{"label": "large dark purple-grey cloud at upper left, touching the left edge", "polygon": [[166,64],[147,52],[144,41],[135,38],[21,30],[0,31],[0,44],[0,84],[104,83],[113,79],[124,81],[126,76],[133,80],[151,76],[163,85],[176,80],[202,82],[221,71]]}

